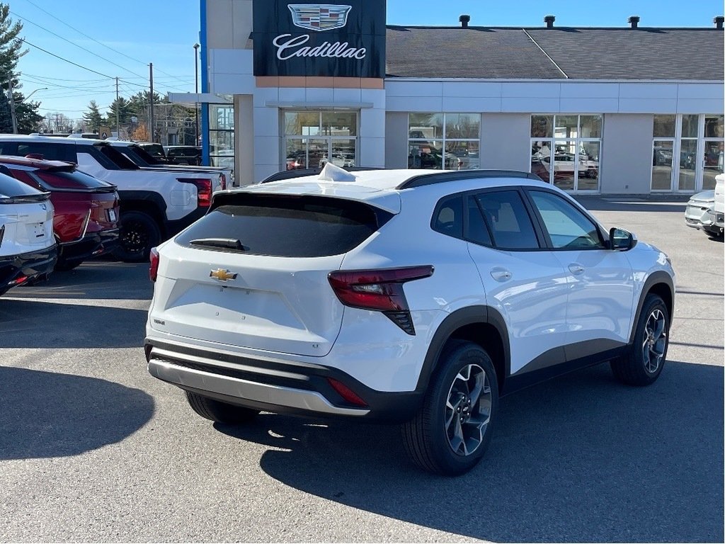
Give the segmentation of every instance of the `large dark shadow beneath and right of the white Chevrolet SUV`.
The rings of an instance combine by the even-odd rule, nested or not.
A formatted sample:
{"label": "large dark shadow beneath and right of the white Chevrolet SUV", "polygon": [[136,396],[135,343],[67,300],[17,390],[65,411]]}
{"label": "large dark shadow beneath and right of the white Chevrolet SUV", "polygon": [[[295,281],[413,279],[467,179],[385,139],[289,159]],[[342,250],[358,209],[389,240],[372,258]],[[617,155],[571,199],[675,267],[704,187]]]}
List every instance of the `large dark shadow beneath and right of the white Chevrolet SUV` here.
{"label": "large dark shadow beneath and right of the white Chevrolet SUV", "polygon": [[262,469],[306,493],[495,542],[722,542],[723,368],[668,362],[625,387],[606,365],[505,397],[484,461],[411,466],[397,426],[261,414],[220,432],[270,446]]}

